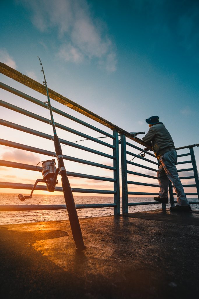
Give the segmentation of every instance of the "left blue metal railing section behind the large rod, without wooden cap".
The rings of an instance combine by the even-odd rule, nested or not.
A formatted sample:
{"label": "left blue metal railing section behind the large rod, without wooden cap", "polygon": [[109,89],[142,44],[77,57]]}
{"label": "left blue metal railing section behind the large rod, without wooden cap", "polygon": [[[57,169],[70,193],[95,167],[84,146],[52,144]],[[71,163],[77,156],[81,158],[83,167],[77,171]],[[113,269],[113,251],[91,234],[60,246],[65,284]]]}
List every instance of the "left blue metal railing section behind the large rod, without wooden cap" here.
{"label": "left blue metal railing section behind the large rod, without wooden cap", "polygon": [[[24,94],[21,91],[18,91],[4,83],[0,83],[0,87],[4,90],[7,90],[13,94],[16,94],[26,100],[31,101],[32,103],[39,105],[41,107],[47,108],[44,106],[44,103],[41,102],[40,100],[37,100],[36,98],[33,98],[27,94]],[[3,100],[0,100],[0,106],[3,106],[7,109],[10,109],[14,112],[18,112],[22,115],[26,115],[30,118],[39,120],[43,123],[47,123],[47,124],[51,124],[51,121],[47,118],[44,118],[42,116],[39,116],[37,114],[34,114],[30,111],[27,111],[25,109],[22,109],[20,107],[17,107],[13,104],[7,103]],[[76,192],[76,193],[98,193],[98,194],[113,194],[114,197],[114,202],[113,203],[104,203],[104,204],[82,204],[82,205],[76,205],[76,208],[104,208],[104,207],[113,207],[114,208],[114,214],[120,214],[120,186],[119,186],[119,150],[118,150],[118,132],[116,130],[111,131],[112,134],[109,134],[95,126],[92,126],[89,123],[86,123],[78,118],[75,118],[59,109],[56,109],[54,107],[52,107],[53,112],[64,116],[65,118],[69,118],[70,120],[73,120],[74,122],[80,123],[83,126],[86,126],[87,128],[92,129],[95,132],[100,133],[101,135],[103,135],[104,137],[110,138],[112,140],[112,144],[109,144],[107,142],[104,142],[100,139],[97,138],[93,138],[90,135],[84,134],[83,132],[79,132],[77,130],[74,130],[70,127],[64,126],[60,123],[56,123],[55,122],[55,126],[57,128],[63,129],[67,132],[70,132],[72,134],[81,136],[82,138],[86,138],[90,141],[93,141],[95,143],[98,143],[104,147],[108,147],[110,149],[112,149],[112,155],[109,155],[105,152],[101,152],[89,147],[85,147],[79,144],[76,144],[74,142],[70,142],[64,139],[60,139],[60,143],[70,146],[70,147],[74,147],[77,149],[81,149],[81,151],[86,151],[86,152],[90,152],[96,155],[100,155],[102,157],[106,157],[109,159],[113,160],[113,166],[109,166],[109,165],[105,165],[105,164],[100,164],[100,163],[96,163],[93,161],[87,161],[84,160],[82,158],[75,158],[75,157],[71,157],[71,156],[67,156],[67,155],[63,155],[63,158],[67,161],[73,161],[73,162],[78,162],[78,163],[82,163],[85,165],[90,165],[90,166],[95,166],[95,167],[100,167],[100,168],[104,168],[106,170],[112,170],[113,172],[113,178],[110,177],[102,177],[102,176],[93,176],[93,175],[89,175],[89,174],[84,174],[84,173],[73,173],[73,172],[67,172],[68,176],[73,176],[73,177],[78,177],[78,178],[86,178],[86,179],[92,179],[92,180],[98,180],[98,181],[108,181],[108,182],[113,182],[113,190],[96,190],[96,189],[83,189],[83,188],[72,188],[72,192]],[[26,132],[28,134],[32,134],[32,135],[36,135],[40,138],[45,138],[48,140],[52,140],[53,141],[53,136],[48,135],[44,132],[39,132],[36,131],[34,129],[30,129],[28,127],[25,126],[21,126],[19,124],[7,121],[7,120],[3,120],[0,119],[0,124],[2,126],[7,126],[10,127],[14,130],[19,130],[22,132]],[[0,139],[0,144],[7,146],[7,147],[13,147],[16,149],[21,149],[21,150],[26,150],[29,152],[34,152],[34,153],[38,153],[38,154],[42,154],[42,155],[47,155],[48,157],[56,157],[54,152],[51,152],[49,150],[45,150],[45,149],[41,149],[41,148],[37,148],[37,147],[31,147],[25,144],[20,144],[20,143],[16,143],[13,141],[9,141],[9,140],[4,140],[4,139]],[[36,167],[34,165],[29,165],[29,164],[22,164],[22,163],[16,163],[13,161],[4,161],[4,160],[0,160],[0,166],[4,166],[4,167],[14,167],[14,168],[19,168],[19,169],[25,169],[25,170],[33,170],[33,171],[38,171],[41,170],[42,167]],[[13,183],[13,182],[0,182],[0,188],[14,188],[14,189],[26,189],[26,190],[32,190],[33,185],[32,184],[22,184],[22,183]],[[43,185],[37,185],[35,190],[47,190],[46,186]],[[62,191],[62,187],[55,187],[55,191]],[[15,206],[6,206],[3,205],[1,206],[1,210],[46,210],[46,209],[66,209],[65,205],[42,205],[41,207],[38,207],[38,205],[32,205],[32,207],[30,207],[30,205],[15,205]]]}

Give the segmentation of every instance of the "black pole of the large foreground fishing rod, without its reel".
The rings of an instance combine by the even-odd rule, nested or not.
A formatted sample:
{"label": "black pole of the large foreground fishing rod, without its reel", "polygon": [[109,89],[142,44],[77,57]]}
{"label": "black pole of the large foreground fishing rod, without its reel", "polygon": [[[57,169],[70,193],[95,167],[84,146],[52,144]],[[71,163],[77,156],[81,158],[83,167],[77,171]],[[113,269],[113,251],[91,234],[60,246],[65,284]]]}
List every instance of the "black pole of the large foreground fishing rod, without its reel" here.
{"label": "black pole of the large foreground fishing rod, without its reel", "polygon": [[[38,59],[40,61],[40,65],[42,68],[41,71],[44,74],[44,69],[43,69],[41,60],[39,57],[38,57]],[[75,207],[72,190],[71,190],[70,183],[69,183],[67,173],[66,173],[66,169],[64,166],[64,159],[63,159],[63,155],[62,155],[61,144],[60,144],[59,138],[57,136],[56,128],[55,128],[55,122],[53,119],[53,112],[52,112],[52,108],[51,108],[51,104],[50,104],[50,97],[49,97],[49,93],[48,93],[45,74],[44,74],[43,84],[46,86],[46,93],[47,93],[48,101],[45,103],[48,105],[48,108],[50,110],[50,117],[51,117],[51,122],[52,122],[52,126],[53,126],[53,134],[54,134],[53,138],[54,138],[54,145],[55,145],[55,153],[57,156],[58,167],[59,167],[59,171],[61,174],[62,188],[63,188],[64,199],[65,199],[66,207],[67,207],[67,211],[68,211],[68,217],[69,217],[69,221],[70,221],[72,236],[75,241],[77,251],[82,251],[86,247],[84,245],[84,240],[83,240],[82,233],[81,233],[81,227],[79,224],[79,219],[78,219],[77,210]]]}

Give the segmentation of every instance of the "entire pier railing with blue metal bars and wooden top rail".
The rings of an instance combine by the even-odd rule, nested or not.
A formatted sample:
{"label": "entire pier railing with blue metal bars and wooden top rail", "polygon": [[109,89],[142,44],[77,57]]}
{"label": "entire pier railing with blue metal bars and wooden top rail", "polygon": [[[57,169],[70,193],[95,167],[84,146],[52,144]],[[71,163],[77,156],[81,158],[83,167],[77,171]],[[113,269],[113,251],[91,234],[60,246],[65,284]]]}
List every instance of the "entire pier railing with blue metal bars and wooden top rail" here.
{"label": "entire pier railing with blue metal bars and wooden top rail", "polygon": [[[45,87],[32,80],[31,78],[22,75],[18,71],[8,67],[7,65],[4,65],[3,63],[0,62],[0,72],[10,78],[13,78],[19,83],[22,83],[38,92],[41,94],[45,94]],[[0,88],[4,89],[5,91],[14,94],[18,97],[21,97],[27,101],[30,101],[34,105],[38,105],[40,107],[43,107],[47,109],[47,107],[44,106],[44,102],[36,99],[35,97],[32,97],[28,94],[25,94],[21,91],[18,91],[17,89],[14,89],[11,86],[8,86],[4,83],[0,82]],[[83,189],[83,188],[72,188],[72,192],[76,193],[92,193],[92,194],[113,194],[113,203],[103,203],[103,204],[81,204],[81,205],[76,205],[77,209],[82,209],[82,208],[107,208],[107,207],[113,207],[114,208],[114,214],[119,215],[120,214],[120,179],[119,179],[119,144],[121,144],[121,172],[122,172],[122,177],[121,177],[121,182],[122,182],[122,213],[128,213],[128,207],[129,206],[135,206],[135,205],[152,205],[152,204],[157,204],[158,202],[129,202],[128,201],[128,196],[129,195],[158,195],[158,192],[136,192],[136,189],[134,191],[129,191],[128,186],[138,186],[138,187],[159,187],[159,184],[157,182],[157,176],[156,173],[158,171],[158,161],[155,158],[155,155],[153,155],[150,152],[144,151],[140,146],[146,147],[147,144],[145,144],[141,139],[135,137],[131,133],[121,129],[118,126],[115,126],[114,124],[110,123],[109,121],[101,118],[100,116],[90,112],[89,110],[85,109],[82,106],[79,106],[78,104],[72,102],[71,100],[61,96],[60,94],[56,93],[55,91],[49,89],[49,94],[50,97],[56,101],[58,101],[61,104],[64,104],[66,106],[69,106],[71,109],[79,112],[81,115],[86,115],[88,118],[95,120],[96,124],[100,123],[101,125],[104,125],[107,128],[111,129],[110,132],[106,132],[97,126],[93,126],[90,123],[87,123],[79,118],[76,118],[70,114],[67,114],[66,112],[63,112],[60,109],[57,109],[55,107],[52,107],[52,111],[60,115],[61,117],[64,117],[64,119],[69,119],[72,120],[75,123],[78,123],[84,128],[88,128],[92,130],[93,132],[98,132],[101,134],[101,138],[107,138],[110,143],[105,142],[100,140],[101,138],[94,138],[88,134],[85,134],[84,132],[80,132],[78,130],[72,129],[71,127],[65,126],[64,124],[55,122],[55,126],[59,129],[62,129],[66,132],[69,132],[71,134],[75,134],[80,136],[81,138],[85,138],[87,140],[90,140],[94,142],[95,144],[99,144],[100,147],[102,146],[103,149],[109,149],[109,153],[106,153],[104,151],[99,151],[97,149],[93,149],[91,147],[85,147],[80,144],[71,142],[66,139],[61,139],[60,138],[60,143],[63,145],[67,145],[72,148],[76,148],[81,150],[82,152],[89,152],[91,154],[97,155],[98,157],[105,157],[107,159],[110,159],[113,161],[113,166],[106,165],[106,164],[100,164],[94,161],[88,161],[86,159],[81,157],[73,157],[73,156],[68,156],[68,155],[63,155],[64,159],[67,161],[72,161],[74,163],[81,163],[84,165],[90,165],[92,167],[98,167],[102,168],[105,170],[110,170],[112,171],[112,178],[105,177],[105,176],[95,176],[91,174],[85,174],[85,173],[77,173],[77,172],[70,172],[67,171],[67,176],[70,177],[77,177],[77,178],[84,178],[84,179],[91,179],[91,180],[98,180],[98,181],[106,181],[106,182],[112,182],[113,183],[113,190],[98,190],[98,189]],[[21,115],[24,115],[30,119],[34,119],[37,121],[40,121],[42,123],[51,125],[51,121],[48,118],[44,118],[38,114],[35,114],[33,112],[27,111],[23,108],[20,108],[18,106],[15,106],[11,103],[7,103],[3,100],[0,100],[0,106],[9,109],[10,111],[13,111],[15,113],[19,113]],[[44,132],[40,132],[31,128],[28,128],[26,126],[22,126],[20,124],[10,122],[7,120],[0,119],[0,125],[12,128],[15,131],[21,131],[25,132],[30,135],[35,135],[38,138],[43,138],[46,140],[51,140],[53,141],[53,136],[46,134]],[[83,130],[84,131],[84,130]],[[121,140],[118,140],[118,133],[121,135]],[[130,138],[129,141],[126,141],[126,138]],[[134,143],[137,143],[139,146],[136,146]],[[48,149],[41,149],[38,147],[32,147],[26,144],[21,144],[17,143],[11,140],[5,140],[5,139],[0,139],[0,144],[7,146],[7,147],[12,147],[16,149],[21,149],[25,150],[27,152],[33,152],[33,153],[38,153],[41,155],[45,155],[48,157],[55,157],[55,153],[52,151],[49,151]],[[195,162],[195,156],[194,156],[194,146],[199,146],[199,144],[191,145],[189,147],[183,147],[183,148],[189,148],[190,153],[178,155],[178,157],[184,157],[184,156],[191,156],[190,161],[182,161],[178,162],[177,164],[185,164],[185,163],[192,163],[192,168],[187,168],[183,170],[178,170],[178,172],[182,171],[193,171],[193,176],[184,176],[180,177],[180,179],[195,179],[195,184],[189,184],[189,185],[183,185],[183,187],[196,187],[197,192],[195,193],[186,193],[186,195],[198,195],[199,194],[199,181],[198,181],[198,171],[196,167],[196,162]],[[183,149],[183,148],[178,148],[178,150]],[[147,158],[141,157],[136,153],[136,151],[143,151],[146,155]],[[110,151],[112,152],[110,154]],[[127,159],[127,156],[131,157]],[[133,159],[136,158],[137,161],[134,162],[132,161]],[[139,163],[138,163],[139,159]],[[144,164],[141,164],[144,163]],[[129,167],[133,166],[133,170],[127,169],[127,165]],[[3,167],[12,167],[12,168],[17,168],[17,169],[23,169],[23,170],[30,170],[30,171],[41,171],[42,167],[36,167],[35,165],[30,165],[30,164],[24,164],[24,163],[18,163],[14,161],[5,161],[5,160],[0,160],[0,166]],[[141,172],[141,170],[144,169],[145,173]],[[150,172],[150,174],[147,174],[147,172]],[[150,179],[150,180],[156,180],[155,183],[153,182],[143,182],[143,181],[134,181],[131,179],[128,179],[129,175],[132,177],[132,175],[136,177],[140,177],[141,179]],[[31,190],[33,188],[33,184],[23,184],[23,183],[14,183],[14,182],[0,182],[0,188],[13,188],[13,189],[25,189],[25,190]],[[130,188],[129,188],[130,189]],[[173,206],[175,201],[174,201],[174,196],[175,193],[173,193],[173,186],[172,184],[169,185],[169,194],[170,194],[170,201],[171,205]],[[37,185],[35,190],[46,190],[46,186],[44,185]],[[55,187],[55,191],[62,191],[62,187]],[[190,202],[192,203],[192,202]],[[197,202],[193,202],[197,203]],[[165,204],[162,204],[162,208],[166,208]],[[0,211],[8,211],[8,210],[51,210],[51,209],[66,209],[66,205],[1,205],[0,206]]]}

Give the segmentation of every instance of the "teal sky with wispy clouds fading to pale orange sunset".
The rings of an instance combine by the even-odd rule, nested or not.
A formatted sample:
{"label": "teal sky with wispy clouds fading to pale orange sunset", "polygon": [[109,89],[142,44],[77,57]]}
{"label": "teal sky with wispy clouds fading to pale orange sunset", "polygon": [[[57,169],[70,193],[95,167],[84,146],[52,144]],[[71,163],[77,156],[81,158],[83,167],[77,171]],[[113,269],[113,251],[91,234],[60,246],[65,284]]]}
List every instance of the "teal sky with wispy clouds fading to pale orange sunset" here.
{"label": "teal sky with wispy clouds fading to pale orange sunset", "polygon": [[[199,142],[198,1],[1,0],[0,13],[1,62],[42,83],[39,56],[49,88],[126,131],[147,132],[145,119],[158,115],[176,147]],[[0,79],[39,100],[46,100],[43,95],[2,74]],[[49,118],[46,109],[4,90],[1,90],[1,99]],[[110,131],[53,100],[52,106]],[[0,109],[3,119],[52,135],[50,126],[6,108]],[[81,127],[60,116],[55,115],[56,118],[77,130]],[[13,129],[4,126],[0,129],[3,139],[53,150],[51,141],[41,141],[17,131],[13,134]],[[89,129],[83,130],[93,137],[100,136]],[[82,139],[61,129],[58,133],[60,138],[70,141]],[[104,151],[101,145],[90,141],[79,144]],[[194,150],[198,164],[199,147]],[[82,155],[71,147],[63,147],[63,151],[71,156]],[[110,149],[105,151],[112,153]],[[110,163],[107,158],[86,152],[84,158]],[[46,156],[0,146],[0,159],[35,165]],[[67,162],[67,170],[112,177],[110,171],[79,163]],[[38,175],[40,177],[38,173],[0,167],[1,181],[20,180],[30,184]],[[141,177],[136,179],[141,180]],[[112,189],[112,184],[100,181],[75,178],[70,181],[72,187]],[[140,190],[136,186],[130,188]]]}

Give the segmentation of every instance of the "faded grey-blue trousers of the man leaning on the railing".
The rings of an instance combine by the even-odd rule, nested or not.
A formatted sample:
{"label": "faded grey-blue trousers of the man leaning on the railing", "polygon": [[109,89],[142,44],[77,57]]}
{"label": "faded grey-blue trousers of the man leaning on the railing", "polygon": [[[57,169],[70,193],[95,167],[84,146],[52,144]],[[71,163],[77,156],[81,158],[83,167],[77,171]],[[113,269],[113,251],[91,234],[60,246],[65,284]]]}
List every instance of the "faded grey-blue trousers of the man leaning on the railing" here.
{"label": "faded grey-blue trousers of the man leaning on the railing", "polygon": [[163,154],[159,161],[160,166],[158,168],[158,181],[160,185],[159,196],[162,198],[168,197],[169,190],[169,180],[172,182],[175,192],[177,194],[177,204],[180,206],[189,205],[189,202],[184,193],[183,186],[181,184],[181,180],[178,177],[178,172],[175,167],[177,163],[177,152],[171,150]]}

